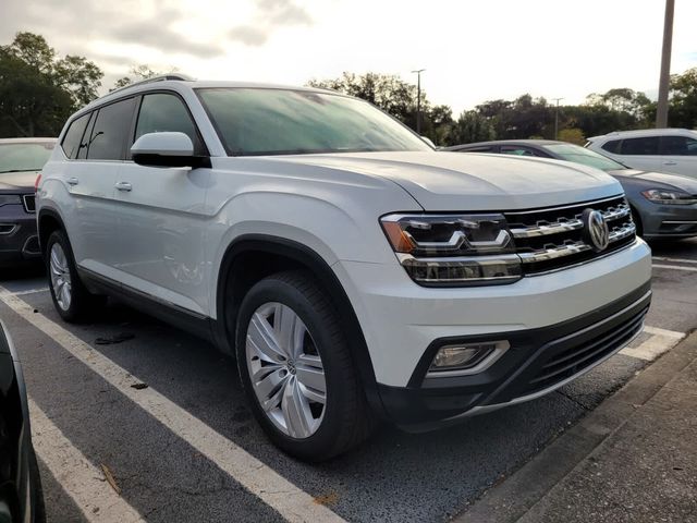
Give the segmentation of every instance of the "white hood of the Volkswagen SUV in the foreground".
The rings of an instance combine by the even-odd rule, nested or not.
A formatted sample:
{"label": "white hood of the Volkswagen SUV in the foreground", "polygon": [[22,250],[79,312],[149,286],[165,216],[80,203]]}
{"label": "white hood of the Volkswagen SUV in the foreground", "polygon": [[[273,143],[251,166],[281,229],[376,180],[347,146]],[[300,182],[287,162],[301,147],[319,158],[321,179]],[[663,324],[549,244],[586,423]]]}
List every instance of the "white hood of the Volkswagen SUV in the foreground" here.
{"label": "white hood of the Volkswagen SUV in the foreground", "polygon": [[603,171],[539,158],[425,151],[307,155],[282,159],[391,180],[426,210],[526,209],[622,194],[619,182]]}

